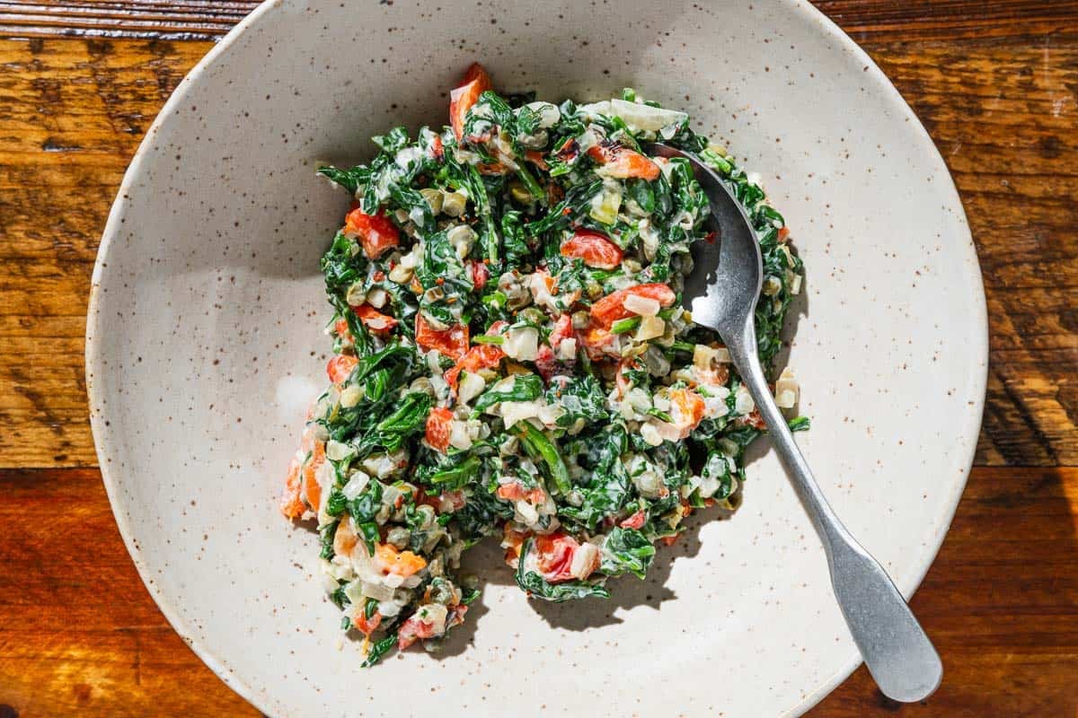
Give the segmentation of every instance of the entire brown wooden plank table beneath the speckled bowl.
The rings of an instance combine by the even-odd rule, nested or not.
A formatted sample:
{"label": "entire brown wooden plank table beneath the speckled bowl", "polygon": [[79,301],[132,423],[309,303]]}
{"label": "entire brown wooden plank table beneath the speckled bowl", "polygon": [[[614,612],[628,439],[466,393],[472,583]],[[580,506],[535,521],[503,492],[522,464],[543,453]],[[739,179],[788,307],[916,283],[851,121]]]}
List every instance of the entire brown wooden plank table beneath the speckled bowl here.
{"label": "entire brown wooden plank table beneath the speckled bowl", "polygon": [[[1078,2],[816,5],[954,174],[992,363],[977,466],[913,600],[943,687],[899,707],[861,668],[811,715],[1076,716]],[[258,715],[135,573],[96,468],[82,358],[121,175],[183,74],[253,6],[0,0],[0,718]]]}

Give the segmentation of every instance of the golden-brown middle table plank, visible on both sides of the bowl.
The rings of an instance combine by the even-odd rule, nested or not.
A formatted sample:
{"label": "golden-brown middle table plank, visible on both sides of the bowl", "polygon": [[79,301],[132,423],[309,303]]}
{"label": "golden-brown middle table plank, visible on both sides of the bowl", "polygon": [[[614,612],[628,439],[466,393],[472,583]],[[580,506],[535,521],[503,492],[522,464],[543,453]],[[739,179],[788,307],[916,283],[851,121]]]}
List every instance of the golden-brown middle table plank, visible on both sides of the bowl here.
{"label": "golden-brown middle table plank, visible on both sides of the bowl", "polygon": [[[1075,465],[1078,41],[1023,42],[868,48],[943,153],[978,244],[992,340],[978,463]],[[0,465],[96,464],[77,358],[93,257],[141,133],[207,47],[0,40],[0,420],[14,427]]]}

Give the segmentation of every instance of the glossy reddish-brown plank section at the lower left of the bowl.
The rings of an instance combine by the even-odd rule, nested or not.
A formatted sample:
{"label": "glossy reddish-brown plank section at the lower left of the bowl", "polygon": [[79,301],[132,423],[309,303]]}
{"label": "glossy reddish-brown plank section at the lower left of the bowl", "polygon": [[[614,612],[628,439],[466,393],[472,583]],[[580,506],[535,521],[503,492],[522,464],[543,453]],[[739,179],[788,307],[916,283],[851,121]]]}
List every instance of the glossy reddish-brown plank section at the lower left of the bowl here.
{"label": "glossy reddish-brown plank section at the lower left of the bowl", "polygon": [[0,716],[258,716],[168,625],[97,469],[0,471]]}

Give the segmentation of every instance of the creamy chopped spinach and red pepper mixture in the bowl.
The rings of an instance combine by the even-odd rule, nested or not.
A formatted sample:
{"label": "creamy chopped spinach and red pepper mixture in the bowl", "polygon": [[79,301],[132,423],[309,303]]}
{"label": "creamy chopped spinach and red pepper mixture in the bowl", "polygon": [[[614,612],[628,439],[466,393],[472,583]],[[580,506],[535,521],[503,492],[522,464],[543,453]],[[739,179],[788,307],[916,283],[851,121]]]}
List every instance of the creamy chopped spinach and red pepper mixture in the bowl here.
{"label": "creamy chopped spinach and red pepper mixture in the bowl", "polygon": [[[683,112],[632,89],[593,104],[499,95],[479,65],[450,127],[375,137],[320,172],[355,197],[321,261],[331,385],[312,407],[281,511],[316,517],[321,567],[367,661],[430,650],[479,594],[461,553],[496,535],[547,601],[642,578],[693,510],[735,508],[765,431],[718,336],[681,309],[689,247],[714,241],[696,153],[763,251],[770,365],[802,265],[783,217]],[[788,371],[779,406],[797,403]],[[803,428],[803,418],[791,426]]]}

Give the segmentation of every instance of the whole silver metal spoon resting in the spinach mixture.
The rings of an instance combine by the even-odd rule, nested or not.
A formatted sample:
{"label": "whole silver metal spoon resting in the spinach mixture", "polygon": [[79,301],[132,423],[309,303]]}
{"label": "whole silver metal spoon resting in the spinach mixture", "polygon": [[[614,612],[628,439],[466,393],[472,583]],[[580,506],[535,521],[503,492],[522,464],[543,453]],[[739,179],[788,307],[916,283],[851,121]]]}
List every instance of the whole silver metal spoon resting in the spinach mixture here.
{"label": "whole silver metal spoon resting in the spinach mixture", "polygon": [[711,202],[717,242],[696,242],[695,270],[686,278],[692,321],[719,333],[730,360],[756,400],[775,451],[824,541],[831,586],[854,642],[880,690],[890,699],[927,698],[943,677],[939,654],[883,566],[858,544],[824,497],[793,442],[757,356],[752,316],[763,276],[760,245],[742,206],[697,157],[654,143],[647,152],[688,159]]}

